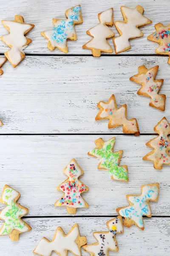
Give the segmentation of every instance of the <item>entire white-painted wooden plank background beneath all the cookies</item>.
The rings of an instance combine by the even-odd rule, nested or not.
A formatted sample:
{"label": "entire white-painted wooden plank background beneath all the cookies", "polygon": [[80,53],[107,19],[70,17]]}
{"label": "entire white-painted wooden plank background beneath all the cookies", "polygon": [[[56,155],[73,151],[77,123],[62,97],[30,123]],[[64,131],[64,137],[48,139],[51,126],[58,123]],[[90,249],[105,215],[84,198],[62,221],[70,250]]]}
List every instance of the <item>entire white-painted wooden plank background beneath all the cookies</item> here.
{"label": "entire white-painted wooden plank background beneath all the cookies", "polygon": [[[68,41],[68,55],[58,49],[50,52],[40,32],[52,27],[52,18],[65,17],[65,10],[77,4],[83,15],[83,24],[76,26],[78,40]],[[113,7],[114,20],[122,20],[120,6],[138,4],[153,23],[141,28],[144,36],[131,40],[129,51],[94,58],[90,50],[82,49],[91,39],[86,30],[98,23],[99,12]],[[105,223],[117,215],[116,208],[128,204],[125,195],[140,193],[142,184],[153,182],[160,184],[159,200],[151,203],[153,217],[144,218],[144,231],[125,227],[125,233],[117,236],[119,252],[109,254],[170,255],[170,167],[155,170],[153,163],[142,160],[150,151],[145,143],[156,136],[153,127],[163,116],[170,121],[170,66],[166,56],[155,54],[158,44],[147,40],[156,23],[170,23],[168,7],[168,0],[1,0],[0,20],[19,14],[35,27],[28,33],[33,41],[25,49],[26,58],[15,69],[6,62],[0,76],[0,119],[4,123],[0,127],[0,192],[7,183],[21,193],[19,203],[29,208],[24,219],[33,229],[17,242],[0,237],[0,256],[11,252],[31,256],[43,236],[52,239],[57,226],[68,232],[74,223],[88,243],[95,242],[92,233],[107,230]],[[116,28],[112,29],[117,36]],[[0,24],[0,36],[6,33]],[[112,39],[109,43],[113,47]],[[0,41],[0,55],[7,50]],[[149,107],[150,99],[138,96],[140,86],[129,81],[140,65],[159,65],[157,79],[164,79],[160,93],[167,96],[165,112]],[[112,93],[118,107],[127,103],[127,117],[138,120],[143,135],[122,135],[122,127],[108,129],[107,120],[95,121],[97,102],[107,101]],[[87,155],[94,140],[108,140],[112,134],[117,134],[115,151],[124,151],[120,164],[128,166],[128,183],[111,180],[108,172],[97,169],[98,160]],[[90,205],[78,209],[76,216],[68,215],[65,207],[54,207],[62,195],[56,187],[66,179],[62,170],[73,157],[85,172],[80,180],[89,187],[83,197]],[[82,256],[88,255],[82,250]]]}

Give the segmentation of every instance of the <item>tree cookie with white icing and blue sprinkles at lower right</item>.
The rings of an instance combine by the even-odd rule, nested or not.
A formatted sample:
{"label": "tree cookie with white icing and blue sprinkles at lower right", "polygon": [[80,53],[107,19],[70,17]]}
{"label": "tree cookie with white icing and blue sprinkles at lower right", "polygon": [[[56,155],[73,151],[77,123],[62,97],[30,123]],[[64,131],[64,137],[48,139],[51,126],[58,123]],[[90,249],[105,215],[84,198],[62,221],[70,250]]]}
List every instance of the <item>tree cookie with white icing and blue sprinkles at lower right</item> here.
{"label": "tree cookie with white icing and blue sprinkles at lower right", "polygon": [[149,201],[157,201],[159,196],[159,184],[148,184],[141,186],[141,195],[126,195],[129,206],[121,207],[116,211],[125,218],[123,224],[131,227],[135,224],[144,230],[143,215],[152,216]]}

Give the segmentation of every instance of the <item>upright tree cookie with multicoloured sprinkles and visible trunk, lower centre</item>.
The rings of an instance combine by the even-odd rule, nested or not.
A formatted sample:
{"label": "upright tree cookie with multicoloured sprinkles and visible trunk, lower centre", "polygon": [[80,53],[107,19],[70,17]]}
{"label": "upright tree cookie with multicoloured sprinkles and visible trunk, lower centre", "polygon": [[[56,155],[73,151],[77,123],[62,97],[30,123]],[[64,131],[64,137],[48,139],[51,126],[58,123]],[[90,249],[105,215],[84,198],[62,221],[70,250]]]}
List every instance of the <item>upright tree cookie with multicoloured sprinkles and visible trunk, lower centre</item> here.
{"label": "upright tree cookie with multicoloured sprinkles and visible trunk, lower centre", "polygon": [[77,161],[72,159],[63,172],[68,176],[68,179],[57,187],[57,190],[64,192],[64,195],[57,200],[55,206],[67,207],[70,214],[75,214],[76,208],[88,208],[88,203],[81,196],[81,193],[88,191],[88,187],[78,179],[84,172]]}

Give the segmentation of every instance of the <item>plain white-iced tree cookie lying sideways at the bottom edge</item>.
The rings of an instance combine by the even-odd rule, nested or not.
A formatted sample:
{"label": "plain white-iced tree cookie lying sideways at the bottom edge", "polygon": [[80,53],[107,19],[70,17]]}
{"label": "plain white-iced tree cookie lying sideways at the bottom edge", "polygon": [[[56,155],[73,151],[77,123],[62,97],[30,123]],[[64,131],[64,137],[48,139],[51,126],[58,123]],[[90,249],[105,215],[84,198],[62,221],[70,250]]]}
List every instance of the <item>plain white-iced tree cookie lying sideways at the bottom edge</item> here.
{"label": "plain white-iced tree cookie lying sideways at the bottom edge", "polygon": [[55,251],[59,256],[67,256],[68,251],[75,256],[81,256],[81,247],[86,244],[86,237],[80,236],[78,224],[74,224],[65,235],[61,227],[57,227],[52,241],[43,237],[33,253],[40,256],[50,256]]}

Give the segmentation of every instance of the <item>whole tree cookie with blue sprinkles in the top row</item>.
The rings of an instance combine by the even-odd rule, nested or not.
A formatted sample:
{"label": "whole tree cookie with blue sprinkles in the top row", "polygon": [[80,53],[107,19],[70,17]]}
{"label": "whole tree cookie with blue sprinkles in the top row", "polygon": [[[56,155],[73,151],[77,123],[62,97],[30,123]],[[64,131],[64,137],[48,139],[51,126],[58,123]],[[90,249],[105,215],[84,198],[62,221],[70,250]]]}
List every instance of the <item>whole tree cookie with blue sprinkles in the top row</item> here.
{"label": "whole tree cookie with blue sprinkles in the top row", "polygon": [[77,40],[75,25],[82,23],[81,6],[75,6],[65,12],[67,19],[53,19],[54,28],[41,32],[40,34],[48,40],[47,47],[54,51],[68,53],[67,39]]}

